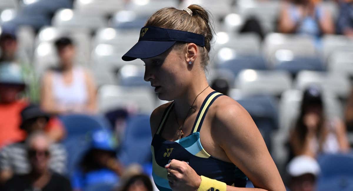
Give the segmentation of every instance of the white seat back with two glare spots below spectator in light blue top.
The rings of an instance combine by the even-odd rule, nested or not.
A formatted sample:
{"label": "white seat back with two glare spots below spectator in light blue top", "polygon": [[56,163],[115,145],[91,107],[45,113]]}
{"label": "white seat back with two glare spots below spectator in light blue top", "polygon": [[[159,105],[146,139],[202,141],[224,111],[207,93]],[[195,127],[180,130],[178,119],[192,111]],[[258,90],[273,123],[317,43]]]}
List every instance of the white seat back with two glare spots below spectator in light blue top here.
{"label": "white seat back with two glare spots below spectator in light blue top", "polygon": [[262,48],[272,65],[276,60],[317,56],[314,40],[303,35],[270,33],[265,36]]}

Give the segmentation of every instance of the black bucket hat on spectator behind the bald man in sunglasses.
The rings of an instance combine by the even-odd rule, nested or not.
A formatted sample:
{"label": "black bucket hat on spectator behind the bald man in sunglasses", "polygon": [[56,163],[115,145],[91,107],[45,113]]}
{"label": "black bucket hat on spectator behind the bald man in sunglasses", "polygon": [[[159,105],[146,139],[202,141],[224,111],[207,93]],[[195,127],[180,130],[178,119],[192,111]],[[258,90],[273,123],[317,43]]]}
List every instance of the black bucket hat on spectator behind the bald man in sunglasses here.
{"label": "black bucket hat on spectator behind the bald man in sunglasses", "polygon": [[22,111],[21,111],[21,118],[22,122],[20,125],[21,129],[24,129],[24,123],[28,120],[37,118],[37,117],[45,117],[47,121],[49,121],[50,115],[46,112],[44,112],[39,105],[37,104],[30,104],[26,106]]}

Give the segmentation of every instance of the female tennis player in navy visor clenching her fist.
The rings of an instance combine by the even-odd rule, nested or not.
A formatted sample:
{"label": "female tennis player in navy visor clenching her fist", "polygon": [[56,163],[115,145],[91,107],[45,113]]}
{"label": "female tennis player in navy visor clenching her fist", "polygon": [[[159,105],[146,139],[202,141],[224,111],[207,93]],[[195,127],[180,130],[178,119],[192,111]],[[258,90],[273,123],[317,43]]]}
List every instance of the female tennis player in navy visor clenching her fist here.
{"label": "female tennis player in navy visor clenching her fist", "polygon": [[[123,57],[145,63],[144,80],[169,100],[151,114],[155,184],[161,191],[285,190],[248,112],[211,89],[205,69],[213,38],[201,6],[162,8]],[[244,188],[250,179],[255,189]]]}

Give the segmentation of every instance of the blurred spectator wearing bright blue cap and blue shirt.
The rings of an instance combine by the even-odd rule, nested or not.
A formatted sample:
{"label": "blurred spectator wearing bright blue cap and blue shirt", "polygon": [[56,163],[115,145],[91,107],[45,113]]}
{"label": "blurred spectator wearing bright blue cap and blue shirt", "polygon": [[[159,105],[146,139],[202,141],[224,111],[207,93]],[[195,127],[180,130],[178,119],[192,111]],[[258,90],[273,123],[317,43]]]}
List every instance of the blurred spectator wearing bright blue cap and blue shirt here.
{"label": "blurred spectator wearing bright blue cap and blue shirt", "polygon": [[116,141],[110,131],[95,131],[91,149],[86,152],[79,169],[72,176],[73,189],[79,191],[101,183],[118,183],[123,168],[116,159],[116,149]]}

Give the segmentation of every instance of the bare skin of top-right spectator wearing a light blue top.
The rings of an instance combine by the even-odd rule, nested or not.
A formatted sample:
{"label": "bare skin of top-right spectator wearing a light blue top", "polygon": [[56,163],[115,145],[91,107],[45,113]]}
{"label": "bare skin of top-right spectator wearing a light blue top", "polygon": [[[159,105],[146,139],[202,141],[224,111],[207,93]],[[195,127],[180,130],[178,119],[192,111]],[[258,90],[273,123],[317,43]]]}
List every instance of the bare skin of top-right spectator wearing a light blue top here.
{"label": "bare skin of top-right spectator wearing a light blue top", "polygon": [[[302,19],[306,16],[313,16],[315,14],[315,6],[317,6],[318,2],[319,1],[317,0],[303,0],[296,4],[296,6],[299,7],[299,12],[301,15],[301,19],[298,23],[294,23],[291,19],[289,13],[290,4],[288,2],[283,2],[279,16],[279,31],[281,33],[295,33]],[[324,34],[333,34],[335,32],[333,18],[327,10],[324,10],[323,17],[318,22],[318,25]]]}

